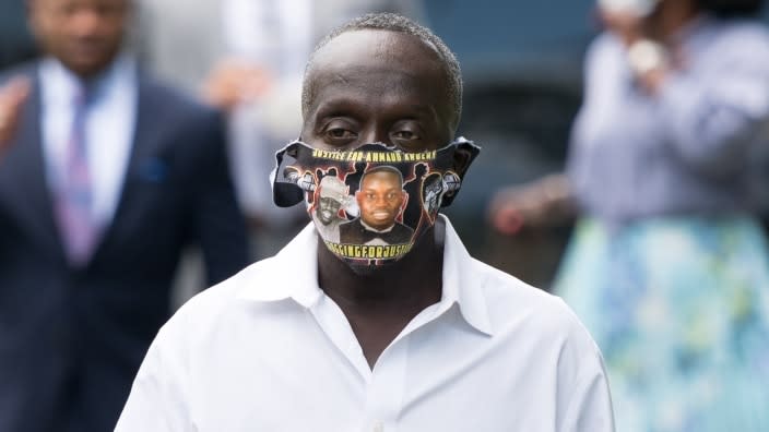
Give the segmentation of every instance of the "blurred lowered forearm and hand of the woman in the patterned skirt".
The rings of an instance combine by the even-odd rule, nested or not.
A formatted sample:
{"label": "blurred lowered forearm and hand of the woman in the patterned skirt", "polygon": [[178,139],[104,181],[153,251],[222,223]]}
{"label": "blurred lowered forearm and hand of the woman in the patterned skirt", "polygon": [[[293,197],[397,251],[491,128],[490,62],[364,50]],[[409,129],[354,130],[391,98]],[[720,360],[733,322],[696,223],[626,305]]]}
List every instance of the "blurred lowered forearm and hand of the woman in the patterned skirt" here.
{"label": "blurred lowered forearm and hand of the woman in the patterned skirt", "polygon": [[566,176],[545,177],[534,183],[508,187],[492,199],[492,226],[505,235],[524,228],[555,226],[573,216]]}

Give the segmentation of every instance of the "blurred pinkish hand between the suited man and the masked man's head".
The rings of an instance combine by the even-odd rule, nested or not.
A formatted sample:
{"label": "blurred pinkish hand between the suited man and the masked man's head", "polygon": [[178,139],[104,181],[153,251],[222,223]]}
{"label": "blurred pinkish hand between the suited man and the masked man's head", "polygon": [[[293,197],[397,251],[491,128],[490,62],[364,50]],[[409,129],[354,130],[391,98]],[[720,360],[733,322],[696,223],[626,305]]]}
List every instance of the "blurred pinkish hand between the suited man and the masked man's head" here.
{"label": "blurred pinkish hand between the suited man and the masked man's head", "polygon": [[265,94],[272,81],[264,69],[240,59],[228,59],[216,65],[203,84],[203,99],[224,110],[248,103]]}

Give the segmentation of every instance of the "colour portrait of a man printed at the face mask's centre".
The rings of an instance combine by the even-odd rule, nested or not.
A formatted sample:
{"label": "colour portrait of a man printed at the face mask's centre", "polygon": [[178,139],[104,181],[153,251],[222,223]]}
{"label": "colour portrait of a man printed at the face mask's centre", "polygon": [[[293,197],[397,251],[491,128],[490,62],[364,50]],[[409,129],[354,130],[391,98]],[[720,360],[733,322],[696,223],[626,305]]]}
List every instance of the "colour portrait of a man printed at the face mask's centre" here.
{"label": "colour portrait of a man printed at the face mask's centre", "polygon": [[340,225],[342,243],[402,244],[411,240],[414,230],[395,220],[406,199],[401,171],[389,166],[366,171],[355,199],[360,217]]}

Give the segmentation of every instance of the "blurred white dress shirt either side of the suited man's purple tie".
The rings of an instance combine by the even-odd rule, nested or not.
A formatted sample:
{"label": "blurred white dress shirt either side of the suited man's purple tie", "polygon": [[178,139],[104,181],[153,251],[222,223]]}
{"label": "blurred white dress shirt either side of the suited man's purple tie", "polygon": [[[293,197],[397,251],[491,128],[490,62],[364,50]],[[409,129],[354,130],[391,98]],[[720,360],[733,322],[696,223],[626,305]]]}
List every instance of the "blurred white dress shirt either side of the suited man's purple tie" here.
{"label": "blurred white dress shirt either side of the suited man's purple tie", "polygon": [[[72,134],[75,75],[54,58],[39,69],[43,155],[48,187],[56,191],[66,169]],[[129,57],[119,57],[94,83],[85,115],[85,139],[93,192],[94,220],[108,225],[120,199],[137,121],[137,70]]]}

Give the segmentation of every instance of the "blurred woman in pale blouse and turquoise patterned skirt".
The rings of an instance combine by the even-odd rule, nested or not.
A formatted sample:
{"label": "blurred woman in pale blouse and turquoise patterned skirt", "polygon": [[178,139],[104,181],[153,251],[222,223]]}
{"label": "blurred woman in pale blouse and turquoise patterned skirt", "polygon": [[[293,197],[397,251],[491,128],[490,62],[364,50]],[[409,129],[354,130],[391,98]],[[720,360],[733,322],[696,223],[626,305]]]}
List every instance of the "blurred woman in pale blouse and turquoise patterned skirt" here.
{"label": "blurred woman in pale blouse and turquoise patterned skirt", "polygon": [[581,213],[555,291],[604,352],[617,430],[769,430],[761,3],[600,1],[568,175],[492,204],[502,232]]}

